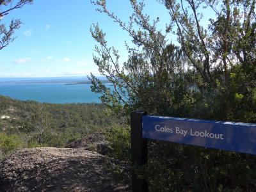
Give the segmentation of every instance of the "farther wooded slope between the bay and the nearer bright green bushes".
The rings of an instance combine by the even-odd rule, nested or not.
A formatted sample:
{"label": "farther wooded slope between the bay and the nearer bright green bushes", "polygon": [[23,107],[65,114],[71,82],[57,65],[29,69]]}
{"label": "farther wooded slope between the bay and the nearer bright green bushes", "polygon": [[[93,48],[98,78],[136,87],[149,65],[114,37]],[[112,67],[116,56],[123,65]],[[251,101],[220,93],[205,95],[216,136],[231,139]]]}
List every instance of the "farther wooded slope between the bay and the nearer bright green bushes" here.
{"label": "farther wooded slope between the bay and the nearer bright green bushes", "polygon": [[102,104],[42,104],[0,95],[0,131],[10,127],[19,129],[18,125],[28,126],[35,122],[35,118],[50,118],[49,124],[57,129],[61,128],[62,131],[68,127],[80,127],[90,132],[89,129],[118,122],[104,115],[103,110]]}

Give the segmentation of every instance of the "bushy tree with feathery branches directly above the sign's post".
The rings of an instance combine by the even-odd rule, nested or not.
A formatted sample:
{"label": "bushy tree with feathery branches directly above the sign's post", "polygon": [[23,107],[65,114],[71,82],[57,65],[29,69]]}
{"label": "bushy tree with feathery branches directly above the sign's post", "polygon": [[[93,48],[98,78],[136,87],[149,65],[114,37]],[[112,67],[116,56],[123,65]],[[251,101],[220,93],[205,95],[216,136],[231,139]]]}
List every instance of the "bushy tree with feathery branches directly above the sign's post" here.
{"label": "bushy tree with feathery branches directly above the sign's post", "polygon": [[[120,67],[118,51],[114,47],[108,47],[105,34],[98,25],[92,27],[92,36],[100,45],[95,51],[101,56],[101,58],[93,56],[93,59],[99,66],[100,73],[106,76],[114,87],[111,92],[92,74],[90,77],[93,83],[92,90],[102,93],[100,99],[116,115],[128,115],[134,109],[144,109],[148,113],[159,113],[159,109],[163,109],[161,114],[166,115],[182,111],[184,104],[182,100],[189,95],[187,93],[189,90],[186,90],[189,82],[185,79],[186,82],[180,84],[179,88],[174,86],[179,81],[183,81],[186,69],[182,63],[183,57],[179,47],[166,40],[170,26],[166,26],[166,34],[162,34],[157,29],[159,19],[150,24],[148,15],[142,13],[143,3],[137,4],[136,1],[131,1],[134,13],[128,24],[110,13],[102,1],[93,1],[93,3],[100,6],[100,12],[108,14],[127,31],[132,37],[134,47],[126,44],[129,59],[123,67]],[[135,31],[134,25],[140,29]],[[173,87],[179,89],[179,92]],[[164,106],[172,106],[172,108],[163,108]]]}

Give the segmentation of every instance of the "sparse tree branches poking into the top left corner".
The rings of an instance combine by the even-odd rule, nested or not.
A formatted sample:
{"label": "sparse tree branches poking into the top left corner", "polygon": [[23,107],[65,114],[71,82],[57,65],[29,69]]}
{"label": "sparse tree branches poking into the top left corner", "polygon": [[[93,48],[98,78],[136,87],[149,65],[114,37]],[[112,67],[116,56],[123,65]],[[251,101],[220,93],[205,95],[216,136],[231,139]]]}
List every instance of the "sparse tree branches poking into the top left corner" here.
{"label": "sparse tree branches poking into the top left corner", "polygon": [[[0,0],[0,22],[12,10],[22,8],[25,4],[31,3],[33,3],[33,0]],[[13,6],[13,4],[15,5]],[[20,24],[22,24],[20,19],[12,19],[8,28],[6,24],[0,24],[0,50],[15,40],[16,37],[13,37],[13,33],[16,29],[20,28]]]}

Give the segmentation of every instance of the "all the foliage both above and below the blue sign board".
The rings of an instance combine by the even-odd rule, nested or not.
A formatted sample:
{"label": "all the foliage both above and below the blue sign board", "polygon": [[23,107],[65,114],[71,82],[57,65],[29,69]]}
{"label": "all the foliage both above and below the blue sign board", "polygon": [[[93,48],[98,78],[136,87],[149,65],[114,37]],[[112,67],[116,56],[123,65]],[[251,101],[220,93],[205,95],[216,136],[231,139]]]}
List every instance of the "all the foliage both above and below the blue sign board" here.
{"label": "all the foliage both above and below the blue sign board", "polygon": [[[111,91],[92,74],[92,91],[102,94],[113,115],[140,109],[152,115],[256,123],[255,0],[159,0],[170,13],[164,30],[157,28],[158,17],[151,20],[143,13],[143,1],[130,2],[133,13],[125,23],[108,10],[107,1],[92,1],[132,38],[122,65],[99,25],[91,28],[98,43],[93,60],[114,87]],[[215,17],[202,25],[208,12]],[[168,36],[177,37],[178,44]],[[152,191],[255,188],[255,157],[157,141],[150,142],[149,151],[141,177]]]}

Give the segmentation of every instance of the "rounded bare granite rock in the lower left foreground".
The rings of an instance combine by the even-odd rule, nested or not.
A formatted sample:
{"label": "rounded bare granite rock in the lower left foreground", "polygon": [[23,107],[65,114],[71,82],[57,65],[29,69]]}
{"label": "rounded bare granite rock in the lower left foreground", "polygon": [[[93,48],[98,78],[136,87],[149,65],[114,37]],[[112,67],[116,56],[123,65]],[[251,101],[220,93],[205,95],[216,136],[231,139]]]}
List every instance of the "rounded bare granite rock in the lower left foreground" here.
{"label": "rounded bare granite rock in the lower left foreground", "polygon": [[129,191],[83,148],[29,148],[0,163],[0,191]]}

